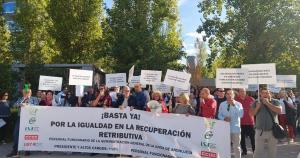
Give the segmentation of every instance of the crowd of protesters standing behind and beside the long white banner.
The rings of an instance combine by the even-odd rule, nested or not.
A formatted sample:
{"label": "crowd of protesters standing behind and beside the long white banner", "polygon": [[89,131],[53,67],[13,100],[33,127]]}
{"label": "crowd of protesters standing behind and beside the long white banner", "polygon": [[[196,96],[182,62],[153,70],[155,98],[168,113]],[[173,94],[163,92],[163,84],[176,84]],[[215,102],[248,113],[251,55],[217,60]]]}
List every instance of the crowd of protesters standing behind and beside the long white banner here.
{"label": "crowd of protesters standing behind and beside the long white banner", "polygon": [[[287,141],[292,143],[295,141],[299,126],[297,119],[299,119],[300,98],[291,90],[281,90],[279,94],[274,94],[265,88],[260,90],[259,96],[260,98],[257,97],[257,93],[247,95],[245,89],[217,88],[211,91],[209,88],[193,87],[190,94],[182,93],[174,96],[172,93],[162,94],[160,91],[152,91],[150,87],[144,89],[141,84],[135,84],[132,89],[128,86],[88,87],[82,97],[76,97],[69,87],[64,87],[57,94],[49,90],[37,91],[36,96],[32,96],[29,86],[23,89],[22,97],[12,104],[8,101],[8,92],[0,93],[0,119],[6,122],[1,127],[0,141],[4,144],[8,132],[13,132],[13,150],[7,157],[18,155],[20,116],[18,115],[16,119],[14,130],[8,131],[7,125],[11,123],[10,107],[21,107],[28,103],[35,106],[120,108],[223,120],[230,123],[231,147],[235,158],[247,155],[245,143],[247,137],[251,140],[255,158],[259,158],[263,152],[267,152],[269,157],[276,157],[278,140],[272,135],[273,122],[268,110],[271,111],[272,117],[276,120],[278,118],[280,125],[288,133]],[[263,147],[265,142],[268,145],[266,151]],[[25,152],[25,155],[29,154]]]}

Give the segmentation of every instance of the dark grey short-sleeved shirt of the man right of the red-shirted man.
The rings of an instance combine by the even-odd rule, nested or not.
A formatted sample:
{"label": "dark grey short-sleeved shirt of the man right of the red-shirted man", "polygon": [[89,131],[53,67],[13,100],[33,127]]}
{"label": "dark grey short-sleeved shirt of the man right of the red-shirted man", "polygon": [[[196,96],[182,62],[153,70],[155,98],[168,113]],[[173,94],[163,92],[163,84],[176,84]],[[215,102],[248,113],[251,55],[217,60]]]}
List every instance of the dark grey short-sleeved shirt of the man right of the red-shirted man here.
{"label": "dark grey short-sleeved shirt of the man right of the red-shirted man", "polygon": [[[256,103],[257,103],[257,100],[252,104],[251,108],[255,108]],[[280,102],[277,99],[271,99],[271,104],[273,104],[275,106],[280,106]],[[267,108],[268,107],[266,105],[262,105],[261,108],[256,113],[256,121],[255,121],[256,129],[264,130],[264,131],[272,130],[273,121],[272,121],[272,118],[271,118],[269,112],[267,111]],[[278,123],[278,118],[277,118],[278,114],[273,112],[270,109],[269,109],[269,111],[271,112],[275,122]]]}

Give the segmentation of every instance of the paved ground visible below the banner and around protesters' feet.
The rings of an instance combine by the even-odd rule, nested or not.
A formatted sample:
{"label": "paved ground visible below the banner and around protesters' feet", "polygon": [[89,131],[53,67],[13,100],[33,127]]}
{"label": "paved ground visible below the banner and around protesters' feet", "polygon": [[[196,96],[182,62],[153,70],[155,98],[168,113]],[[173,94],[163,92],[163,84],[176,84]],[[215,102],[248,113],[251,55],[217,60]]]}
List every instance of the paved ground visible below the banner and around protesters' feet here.
{"label": "paved ground visible below the banner and around protesters' feet", "polygon": [[[247,144],[249,141],[247,140]],[[287,142],[279,143],[278,145],[278,158],[300,158],[300,139],[298,138],[297,141],[293,144],[288,144]],[[250,145],[248,145],[250,147]],[[5,158],[5,155],[9,153],[11,150],[11,144],[0,145],[0,158]],[[249,149],[251,151],[251,149]],[[25,156],[23,156],[25,157]],[[26,156],[28,158],[86,158],[90,157],[88,154],[68,154],[68,153],[51,153],[48,154],[47,152],[33,152],[30,156]],[[111,158],[106,154],[99,154],[93,156],[95,158]],[[117,156],[120,158],[120,156]],[[121,156],[125,158],[124,156]],[[243,156],[243,158],[252,158],[252,153],[248,153],[247,156]]]}

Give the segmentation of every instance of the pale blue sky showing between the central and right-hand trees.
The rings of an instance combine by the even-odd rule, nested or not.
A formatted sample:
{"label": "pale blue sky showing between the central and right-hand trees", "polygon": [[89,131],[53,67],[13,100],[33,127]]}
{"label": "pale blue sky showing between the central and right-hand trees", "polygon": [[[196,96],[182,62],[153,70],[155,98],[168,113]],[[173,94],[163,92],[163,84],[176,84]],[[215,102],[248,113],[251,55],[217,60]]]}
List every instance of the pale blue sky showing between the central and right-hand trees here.
{"label": "pale blue sky showing between the central and right-hand trees", "polygon": [[[198,3],[200,0],[178,0],[178,10],[181,25],[181,38],[183,40],[184,51],[187,55],[195,55],[197,50],[194,48],[196,38],[202,40],[203,33],[196,32],[201,24],[202,15],[198,12]],[[107,6],[112,6],[112,0],[104,0]],[[183,62],[185,60],[183,59]]]}

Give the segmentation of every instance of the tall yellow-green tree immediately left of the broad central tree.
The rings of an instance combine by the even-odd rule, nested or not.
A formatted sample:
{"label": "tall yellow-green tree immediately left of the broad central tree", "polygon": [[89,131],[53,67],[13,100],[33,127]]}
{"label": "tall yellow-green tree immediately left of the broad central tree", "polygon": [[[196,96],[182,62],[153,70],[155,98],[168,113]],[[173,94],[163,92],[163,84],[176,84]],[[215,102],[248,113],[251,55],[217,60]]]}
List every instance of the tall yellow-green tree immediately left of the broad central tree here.
{"label": "tall yellow-green tree immediately left of the broad central tree", "polygon": [[[103,46],[102,0],[52,0],[51,35],[60,50],[58,63],[93,63]],[[105,44],[105,43],[104,43]]]}

